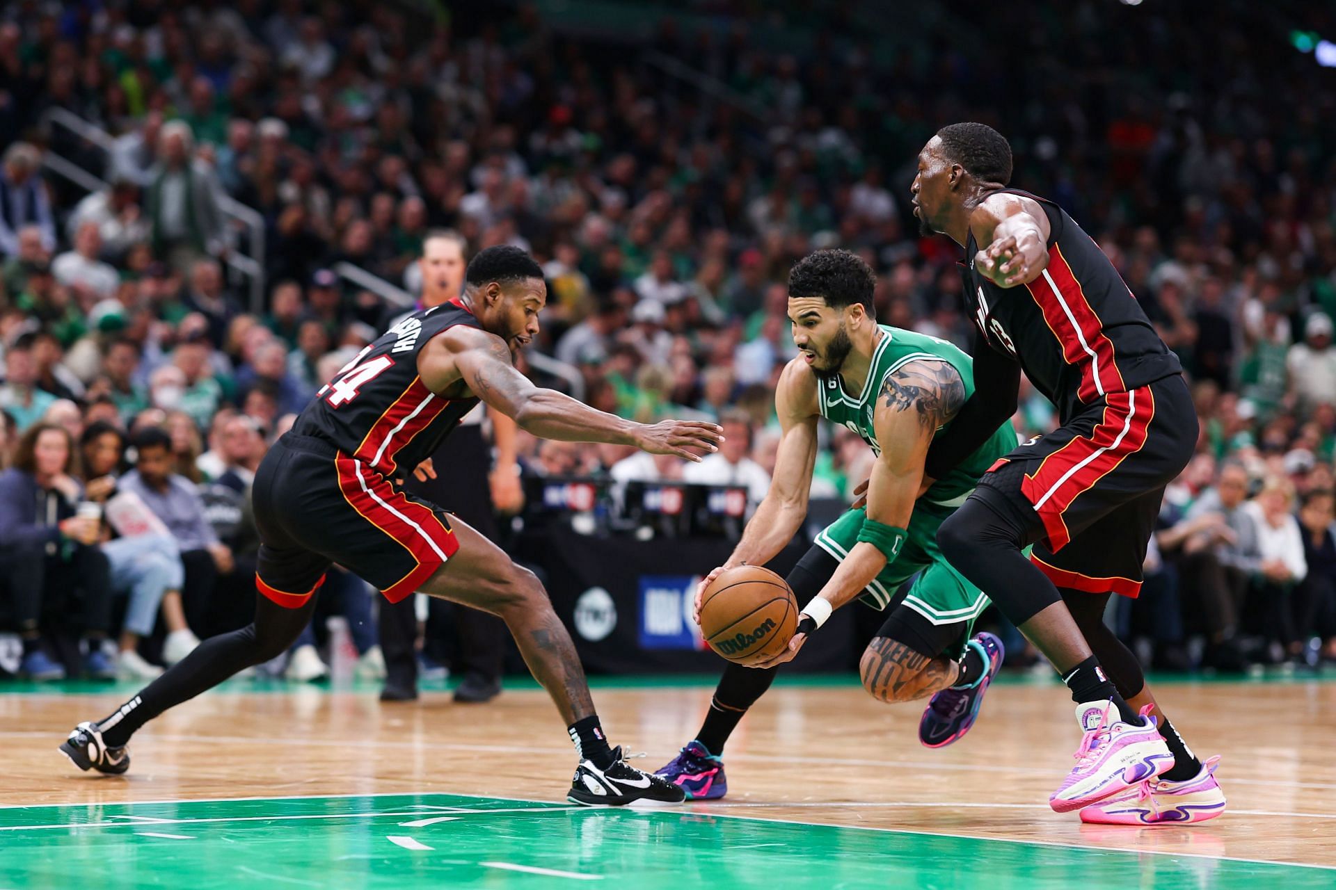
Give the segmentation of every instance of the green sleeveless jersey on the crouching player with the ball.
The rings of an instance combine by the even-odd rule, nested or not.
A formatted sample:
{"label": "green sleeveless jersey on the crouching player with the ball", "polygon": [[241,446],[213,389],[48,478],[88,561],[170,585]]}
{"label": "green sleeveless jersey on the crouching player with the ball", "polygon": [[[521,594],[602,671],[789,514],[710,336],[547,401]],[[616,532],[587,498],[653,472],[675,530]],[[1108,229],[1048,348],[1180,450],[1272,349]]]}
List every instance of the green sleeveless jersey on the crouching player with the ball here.
{"label": "green sleeveless jersey on the crouching player with the ball", "polygon": [[[820,390],[818,402],[822,416],[856,432],[878,455],[880,446],[878,446],[876,434],[872,431],[872,411],[876,407],[876,395],[882,391],[882,383],[895,368],[919,359],[946,362],[959,372],[965,382],[965,398],[974,395],[974,360],[953,343],[887,324],[882,324],[880,330],[882,339],[876,342],[876,348],[872,352],[872,367],[863,383],[862,392],[858,395],[846,392],[839,375],[818,382]],[[935,435],[942,435],[950,426],[946,423],[938,428]],[[1010,423],[1005,423],[978,451],[957,464],[946,476],[938,479],[923,494],[922,500],[942,507],[961,506],[974,491],[979,476],[987,472],[998,458],[1013,448],[1015,448],[1015,432]]]}

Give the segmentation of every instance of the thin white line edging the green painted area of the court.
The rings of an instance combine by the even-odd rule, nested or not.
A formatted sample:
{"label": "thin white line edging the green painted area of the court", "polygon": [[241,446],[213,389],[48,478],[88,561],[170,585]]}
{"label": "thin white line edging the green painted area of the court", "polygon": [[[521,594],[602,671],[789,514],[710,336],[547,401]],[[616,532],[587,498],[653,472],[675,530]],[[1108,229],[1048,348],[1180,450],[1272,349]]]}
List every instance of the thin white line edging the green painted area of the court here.
{"label": "thin white line edging the green painted area of the court", "polygon": [[[15,805],[15,806],[4,807],[4,809],[33,809],[33,807],[61,807],[61,806],[71,806],[71,807],[73,807],[73,806],[146,806],[146,805],[150,805],[150,803],[226,803],[226,802],[234,802],[234,801],[343,801],[343,799],[350,799],[350,798],[424,797],[424,795],[464,797],[464,798],[473,798],[473,799],[477,799],[477,801],[512,801],[512,802],[516,802],[516,803],[546,803],[546,805],[556,805],[556,806],[542,807],[540,810],[522,810],[522,809],[516,809],[516,810],[512,810],[512,809],[505,809],[505,810],[468,810],[469,813],[477,813],[480,815],[488,814],[488,813],[550,813],[550,811],[558,811],[558,813],[560,811],[565,811],[565,813],[599,813],[599,811],[604,811],[604,810],[608,809],[608,807],[566,806],[566,805],[562,805],[558,801],[534,801],[534,799],[529,799],[529,798],[508,797],[508,795],[504,795],[504,794],[486,794],[486,795],[484,795],[484,794],[460,794],[457,791],[377,791],[377,793],[371,793],[371,794],[287,794],[287,795],[278,795],[278,797],[243,797],[243,798],[178,798],[178,799],[174,799],[174,801],[120,801],[120,802],[99,801],[96,803],[33,803],[33,805],[28,805],[28,806],[17,806],[17,805]],[[1130,854],[1136,854],[1136,855],[1150,854],[1150,855],[1168,855],[1168,857],[1188,857],[1188,858],[1193,858],[1193,859],[1208,859],[1208,861],[1213,861],[1213,862],[1245,862],[1245,863],[1250,863],[1250,865],[1275,865],[1275,866],[1289,866],[1289,867],[1295,867],[1295,869],[1315,869],[1317,871],[1336,871],[1336,866],[1316,865],[1316,863],[1312,863],[1312,862],[1291,862],[1291,861],[1287,861],[1287,859],[1252,859],[1252,858],[1248,858],[1248,857],[1225,857],[1225,855],[1212,855],[1209,853],[1185,853],[1185,851],[1181,851],[1181,850],[1148,850],[1145,847],[1096,846],[1096,845],[1088,845],[1088,843],[1066,843],[1066,842],[1061,842],[1061,841],[1035,841],[1033,838],[998,838],[998,837],[985,837],[985,835],[975,835],[975,834],[950,834],[947,831],[929,831],[929,830],[925,830],[925,829],[884,829],[884,827],[871,826],[871,825],[838,825],[838,823],[831,823],[831,822],[807,822],[804,819],[770,819],[770,818],[764,818],[764,817],[760,817],[760,815],[743,815],[743,814],[737,814],[737,813],[719,813],[717,811],[717,809],[723,809],[725,806],[736,809],[736,807],[740,807],[740,806],[774,806],[774,807],[779,807],[779,806],[800,806],[800,805],[784,805],[784,803],[751,803],[751,805],[748,805],[748,803],[725,803],[725,805],[696,805],[696,806],[699,809],[696,809],[696,807],[692,807],[692,809],[679,809],[679,807],[675,807],[675,806],[661,806],[661,807],[652,807],[652,809],[636,807],[636,809],[632,809],[631,811],[632,813],[665,813],[665,814],[679,813],[681,815],[691,815],[691,817],[711,815],[711,817],[715,817],[715,818],[719,818],[719,819],[749,819],[752,822],[768,822],[771,825],[802,825],[802,826],[822,827],[822,829],[852,829],[855,831],[880,831],[880,833],[888,833],[888,834],[915,834],[915,835],[921,835],[921,837],[957,838],[957,839],[961,839],[961,841],[991,841],[991,842],[997,842],[997,843],[1031,843],[1031,845],[1043,846],[1043,847],[1061,847],[1063,850],[1085,850],[1085,851],[1090,851],[1090,853],[1101,853],[1102,851],[1102,853],[1130,853]],[[814,806],[814,807],[815,806],[828,806],[831,809],[839,809],[839,807],[844,807],[844,806],[866,806],[866,805],[860,805],[860,803],[855,802],[855,803],[828,803],[828,805],[814,803],[811,806]],[[908,805],[908,806],[923,806],[923,805]],[[1025,806],[1025,807],[1030,807],[1030,806],[1037,806],[1037,805],[1025,803],[1025,805],[985,805],[985,806],[997,806],[997,807]],[[448,807],[448,809],[449,810],[465,810],[465,807]],[[1244,813],[1246,813],[1246,811],[1244,811]],[[1261,813],[1261,811],[1257,811],[1257,814],[1259,815],[1265,815],[1265,813]],[[322,814],[318,818],[363,818],[363,817],[369,817],[369,815],[393,815],[393,814],[383,814],[383,813],[345,813],[345,814],[327,814],[327,815]],[[1277,814],[1277,815],[1280,815],[1280,814]],[[273,817],[273,815],[269,815],[269,817],[240,817],[240,818],[238,818],[238,817],[231,817],[231,818],[228,818],[228,817],[219,817],[219,818],[204,818],[204,819],[182,819],[182,822],[194,822],[194,823],[200,823],[200,822],[240,822],[240,821],[247,821],[247,819],[250,819],[250,821],[255,821],[255,819],[273,821],[274,818],[275,817]],[[291,818],[307,818],[309,819],[309,818],[313,818],[313,817],[286,817],[286,818],[290,818],[290,819]],[[176,821],[172,821],[172,822],[176,822]],[[107,825],[99,825],[99,823],[73,823],[71,826],[23,826],[23,827],[114,827],[116,823],[107,823]],[[127,825],[128,826],[128,825],[134,825],[134,823],[122,823],[122,825]],[[9,829],[9,830],[15,830],[15,829]],[[1154,830],[1154,829],[1149,829],[1149,830]]]}

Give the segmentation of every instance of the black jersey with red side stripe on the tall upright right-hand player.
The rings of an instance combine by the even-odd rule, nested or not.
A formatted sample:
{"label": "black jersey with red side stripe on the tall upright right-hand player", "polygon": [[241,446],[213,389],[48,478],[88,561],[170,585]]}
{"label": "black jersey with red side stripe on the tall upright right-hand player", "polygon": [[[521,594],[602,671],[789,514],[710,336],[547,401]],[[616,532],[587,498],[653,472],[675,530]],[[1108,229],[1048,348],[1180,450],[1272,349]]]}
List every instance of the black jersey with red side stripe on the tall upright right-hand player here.
{"label": "black jersey with red side stripe on the tall upright right-hand player", "polygon": [[1050,227],[1049,267],[1027,286],[997,287],[974,270],[979,244],[970,232],[966,306],[989,346],[1021,363],[1062,422],[1109,392],[1180,374],[1178,356],[1075,220],[1047,199],[1014,188],[999,191],[1023,195],[1043,208]]}

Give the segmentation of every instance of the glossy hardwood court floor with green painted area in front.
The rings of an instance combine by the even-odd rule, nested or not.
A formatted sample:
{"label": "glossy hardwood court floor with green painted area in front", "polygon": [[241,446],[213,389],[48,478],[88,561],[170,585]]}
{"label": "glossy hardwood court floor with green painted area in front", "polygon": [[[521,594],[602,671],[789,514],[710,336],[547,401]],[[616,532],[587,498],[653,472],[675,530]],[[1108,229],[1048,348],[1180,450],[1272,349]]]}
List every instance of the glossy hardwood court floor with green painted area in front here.
{"label": "glossy hardwood court floor with green painted area in front", "polygon": [[[0,887],[1336,887],[1332,682],[1160,686],[1189,745],[1224,755],[1230,810],[1157,829],[1049,810],[1078,741],[1055,685],[994,686],[939,751],[918,745],[916,706],[776,686],[729,742],[728,797],[652,811],[558,806],[573,753],[536,690],[382,706],[236,683],[143,730],[126,777],[94,778],[55,746],[132,691],[102,689],[0,694]],[[709,691],[595,701],[653,769]]]}

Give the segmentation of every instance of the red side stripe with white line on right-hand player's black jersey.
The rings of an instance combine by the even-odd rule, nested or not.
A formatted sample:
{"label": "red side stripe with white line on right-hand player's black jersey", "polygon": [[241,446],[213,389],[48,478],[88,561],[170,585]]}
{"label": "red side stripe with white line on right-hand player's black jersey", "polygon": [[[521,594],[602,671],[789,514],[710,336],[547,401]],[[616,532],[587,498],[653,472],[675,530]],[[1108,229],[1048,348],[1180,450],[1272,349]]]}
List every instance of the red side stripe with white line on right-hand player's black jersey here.
{"label": "red side stripe with white line on right-hand player's black jersey", "polygon": [[1105,335],[1104,323],[1081,290],[1062,248],[1057,244],[1049,248],[1049,267],[1026,288],[1058,339],[1062,359],[1081,368],[1077,398],[1094,402],[1106,392],[1122,392],[1126,387],[1113,342]]}

